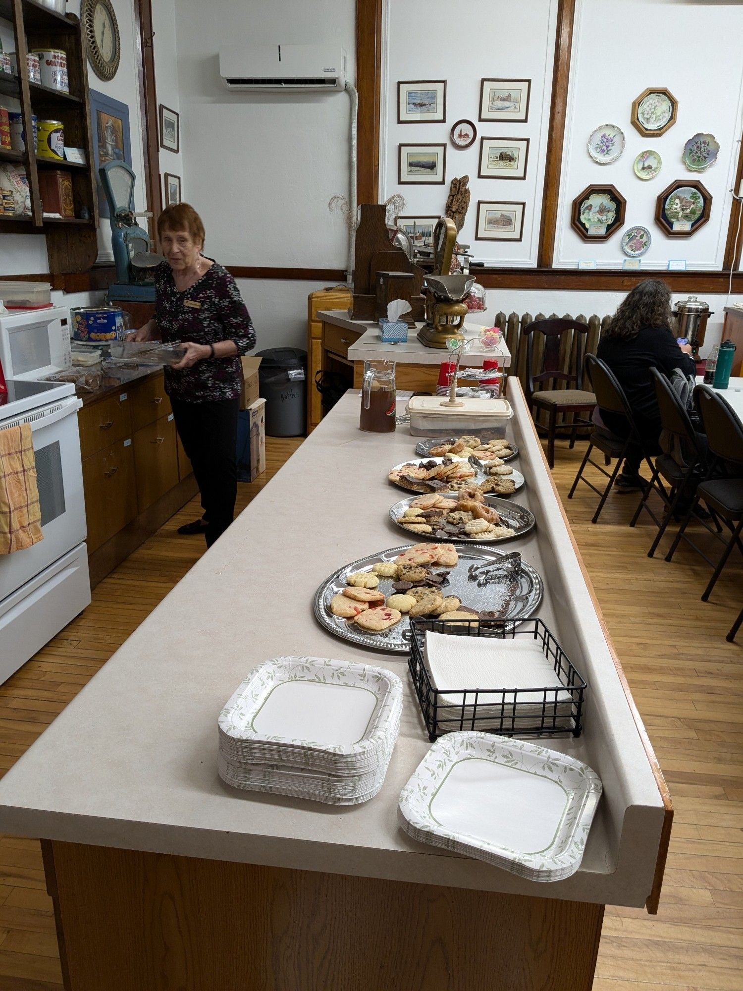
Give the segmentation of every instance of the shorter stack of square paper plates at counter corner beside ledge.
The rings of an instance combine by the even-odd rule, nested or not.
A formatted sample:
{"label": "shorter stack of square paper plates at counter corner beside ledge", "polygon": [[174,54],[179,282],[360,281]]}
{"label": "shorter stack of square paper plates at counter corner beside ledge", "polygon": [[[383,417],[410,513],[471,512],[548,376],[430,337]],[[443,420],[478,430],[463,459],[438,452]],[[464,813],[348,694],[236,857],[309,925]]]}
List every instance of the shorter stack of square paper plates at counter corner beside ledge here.
{"label": "shorter stack of square paper plates at counter corner beside ledge", "polygon": [[573,757],[490,733],[448,733],[402,789],[397,818],[422,843],[531,881],[561,881],[581,865],[600,796],[596,773]]}

